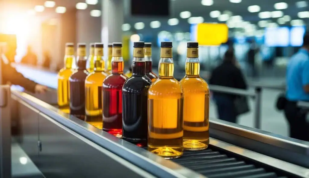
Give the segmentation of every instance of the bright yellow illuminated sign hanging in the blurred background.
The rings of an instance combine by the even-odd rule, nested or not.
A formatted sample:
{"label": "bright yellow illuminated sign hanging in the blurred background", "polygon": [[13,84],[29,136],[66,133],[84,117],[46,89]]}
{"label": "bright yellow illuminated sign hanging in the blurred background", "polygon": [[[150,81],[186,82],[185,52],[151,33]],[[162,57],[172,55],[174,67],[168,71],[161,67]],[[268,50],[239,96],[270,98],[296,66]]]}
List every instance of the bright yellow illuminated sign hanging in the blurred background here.
{"label": "bright yellow illuminated sign hanging in the blurred background", "polygon": [[221,45],[227,42],[228,32],[223,23],[200,23],[197,25],[197,42],[199,45]]}

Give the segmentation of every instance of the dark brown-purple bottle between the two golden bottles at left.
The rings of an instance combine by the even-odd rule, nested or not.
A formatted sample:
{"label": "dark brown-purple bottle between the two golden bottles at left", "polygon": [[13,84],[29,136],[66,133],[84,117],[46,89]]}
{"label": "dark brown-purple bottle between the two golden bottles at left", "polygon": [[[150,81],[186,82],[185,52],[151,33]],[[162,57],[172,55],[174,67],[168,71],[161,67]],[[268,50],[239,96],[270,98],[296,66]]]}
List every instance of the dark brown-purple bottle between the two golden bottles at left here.
{"label": "dark brown-purple bottle between the two golden bottles at left", "polygon": [[70,114],[84,120],[85,118],[85,80],[89,72],[86,70],[86,44],[79,43],[77,48],[77,70],[70,76]]}

